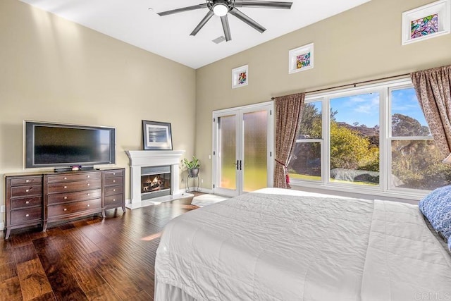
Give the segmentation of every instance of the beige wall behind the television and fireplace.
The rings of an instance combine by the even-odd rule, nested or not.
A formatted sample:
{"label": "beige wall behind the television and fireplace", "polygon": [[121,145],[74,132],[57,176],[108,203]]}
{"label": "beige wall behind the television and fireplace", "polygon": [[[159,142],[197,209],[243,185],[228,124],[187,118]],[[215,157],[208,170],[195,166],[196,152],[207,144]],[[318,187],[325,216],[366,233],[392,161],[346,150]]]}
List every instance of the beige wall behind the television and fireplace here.
{"label": "beige wall behind the television and fireplace", "polygon": [[[23,171],[25,119],[116,127],[117,166],[126,168],[127,183],[124,151],[142,149],[143,119],[171,123],[173,149],[190,156],[195,80],[192,68],[1,0],[0,173]],[[0,196],[4,204],[3,180]]]}

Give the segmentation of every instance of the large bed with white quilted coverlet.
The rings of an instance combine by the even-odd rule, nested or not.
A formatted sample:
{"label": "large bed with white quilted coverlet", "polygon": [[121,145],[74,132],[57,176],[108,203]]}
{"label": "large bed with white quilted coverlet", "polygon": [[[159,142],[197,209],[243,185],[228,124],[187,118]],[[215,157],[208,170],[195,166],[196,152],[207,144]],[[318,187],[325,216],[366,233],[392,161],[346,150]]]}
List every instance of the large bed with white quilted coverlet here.
{"label": "large bed with white quilted coverlet", "polygon": [[451,253],[416,205],[264,188],[166,225],[154,300],[451,300]]}

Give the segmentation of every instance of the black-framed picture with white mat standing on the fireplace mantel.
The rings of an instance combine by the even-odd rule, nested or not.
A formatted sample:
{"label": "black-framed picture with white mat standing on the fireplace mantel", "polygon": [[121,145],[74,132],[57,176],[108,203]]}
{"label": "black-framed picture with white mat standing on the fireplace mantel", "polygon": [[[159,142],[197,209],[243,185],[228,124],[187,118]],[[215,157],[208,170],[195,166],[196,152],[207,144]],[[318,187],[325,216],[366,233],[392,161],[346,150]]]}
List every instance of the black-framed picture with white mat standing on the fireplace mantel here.
{"label": "black-framed picture with white mat standing on the fireplace mantel", "polygon": [[171,123],[142,121],[144,149],[172,149]]}

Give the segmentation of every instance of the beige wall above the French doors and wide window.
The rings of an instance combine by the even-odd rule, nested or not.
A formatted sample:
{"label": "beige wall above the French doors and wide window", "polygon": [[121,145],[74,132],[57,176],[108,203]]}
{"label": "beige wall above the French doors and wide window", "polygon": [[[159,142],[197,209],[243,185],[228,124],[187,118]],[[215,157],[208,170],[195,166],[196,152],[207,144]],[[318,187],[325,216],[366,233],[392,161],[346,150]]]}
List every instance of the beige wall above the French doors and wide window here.
{"label": "beige wall above the French doors and wide window", "polygon": [[[430,2],[372,0],[197,69],[196,108],[202,118],[197,118],[195,152],[202,160],[203,187],[212,188],[209,117],[214,110],[450,64],[451,35],[401,45],[402,12]],[[311,42],[314,68],[289,75],[288,51]],[[246,64],[249,85],[231,89],[231,70]]]}

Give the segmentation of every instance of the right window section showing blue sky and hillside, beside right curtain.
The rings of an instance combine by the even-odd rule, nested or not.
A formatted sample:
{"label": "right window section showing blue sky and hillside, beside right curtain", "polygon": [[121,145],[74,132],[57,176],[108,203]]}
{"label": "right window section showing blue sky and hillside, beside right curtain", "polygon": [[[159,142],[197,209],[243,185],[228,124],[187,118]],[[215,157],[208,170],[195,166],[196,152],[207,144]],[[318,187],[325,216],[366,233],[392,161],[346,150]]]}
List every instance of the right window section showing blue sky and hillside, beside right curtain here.
{"label": "right window section showing blue sky and hillside, beside right curtain", "polygon": [[441,163],[413,87],[390,90],[390,188],[433,190],[451,181],[451,166]]}

